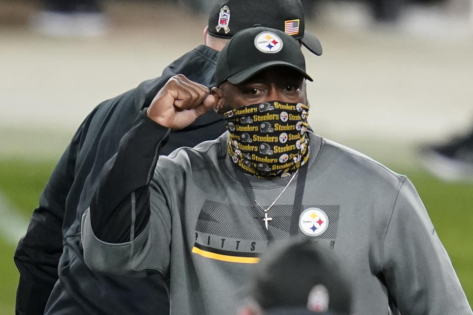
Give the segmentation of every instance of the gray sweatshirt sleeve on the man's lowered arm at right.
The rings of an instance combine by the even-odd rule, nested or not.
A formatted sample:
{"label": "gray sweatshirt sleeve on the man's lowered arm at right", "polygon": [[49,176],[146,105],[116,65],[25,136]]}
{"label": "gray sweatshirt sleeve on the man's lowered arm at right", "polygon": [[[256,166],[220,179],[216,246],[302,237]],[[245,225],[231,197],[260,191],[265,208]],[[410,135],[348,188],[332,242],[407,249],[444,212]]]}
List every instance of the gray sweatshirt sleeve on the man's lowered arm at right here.
{"label": "gray sweatshirt sleeve on the man's lowered arm at right", "polygon": [[406,179],[383,243],[383,274],[403,315],[471,315],[450,258]]}

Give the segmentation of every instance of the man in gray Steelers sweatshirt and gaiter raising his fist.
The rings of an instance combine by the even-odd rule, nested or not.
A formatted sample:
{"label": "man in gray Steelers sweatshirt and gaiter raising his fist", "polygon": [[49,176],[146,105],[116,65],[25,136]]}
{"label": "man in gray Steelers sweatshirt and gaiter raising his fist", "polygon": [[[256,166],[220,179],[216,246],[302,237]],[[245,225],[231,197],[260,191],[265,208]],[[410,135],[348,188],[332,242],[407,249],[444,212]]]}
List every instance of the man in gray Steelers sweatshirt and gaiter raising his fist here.
{"label": "man in gray Steelers sweatshirt and gaiter raising his fist", "polygon": [[[411,182],[307,129],[306,80],[299,43],[263,27],[227,43],[211,94],[169,79],[104,166],[82,217],[87,265],[162,274],[171,314],[235,314],[269,242],[306,238],[342,258],[356,314],[473,314]],[[212,107],[228,132],[159,156]]]}

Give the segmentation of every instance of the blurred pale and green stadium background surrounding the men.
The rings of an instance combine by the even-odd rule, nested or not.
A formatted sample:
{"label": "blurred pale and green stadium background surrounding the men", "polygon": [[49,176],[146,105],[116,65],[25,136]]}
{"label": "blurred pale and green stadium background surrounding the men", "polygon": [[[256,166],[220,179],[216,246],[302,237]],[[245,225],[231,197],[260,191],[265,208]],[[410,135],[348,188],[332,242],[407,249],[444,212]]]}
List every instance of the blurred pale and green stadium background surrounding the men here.
{"label": "blurred pale and green stadium background surrounding the men", "polygon": [[[202,44],[211,3],[0,2],[0,314],[14,313],[13,252],[74,131]],[[473,0],[303,3],[324,49],[304,51],[310,125],[412,180],[472,304]],[[458,143],[463,164],[438,164]]]}

